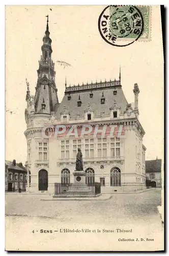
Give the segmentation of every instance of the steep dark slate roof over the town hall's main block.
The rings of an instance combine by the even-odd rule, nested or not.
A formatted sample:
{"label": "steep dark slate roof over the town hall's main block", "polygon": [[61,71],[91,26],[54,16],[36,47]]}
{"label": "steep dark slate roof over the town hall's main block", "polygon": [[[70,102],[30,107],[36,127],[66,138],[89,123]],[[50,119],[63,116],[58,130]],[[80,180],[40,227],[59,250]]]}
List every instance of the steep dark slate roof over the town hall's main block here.
{"label": "steep dark slate roof over the town hall's main block", "polygon": [[[117,91],[117,95],[113,94],[113,91]],[[88,102],[90,102],[91,109],[94,111],[94,115],[100,116],[101,112],[104,112],[104,115],[109,115],[109,108],[114,105],[114,100],[116,100],[117,107],[121,107],[120,111],[124,112],[127,106],[127,100],[124,96],[121,86],[111,87],[111,88],[97,88],[92,90],[93,98],[90,98],[91,90],[81,90],[81,91],[71,91],[65,92],[65,95],[62,99],[62,102],[59,104],[56,115],[60,118],[60,114],[64,109],[64,105],[67,106],[67,109],[70,113],[70,118],[75,118],[76,115],[79,115],[79,118],[84,117],[84,110],[88,108]],[[105,97],[105,103],[101,104],[100,99],[102,93]],[[71,99],[68,100],[68,95],[71,96]],[[81,100],[81,106],[77,106],[77,101]]]}

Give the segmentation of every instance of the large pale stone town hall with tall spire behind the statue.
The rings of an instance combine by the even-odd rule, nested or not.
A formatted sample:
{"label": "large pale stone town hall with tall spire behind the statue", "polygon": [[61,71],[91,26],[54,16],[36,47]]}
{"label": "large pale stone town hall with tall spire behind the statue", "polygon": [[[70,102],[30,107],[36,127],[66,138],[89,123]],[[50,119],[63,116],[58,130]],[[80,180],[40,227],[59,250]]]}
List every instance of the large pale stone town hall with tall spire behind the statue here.
{"label": "large pale stone town hall with tall spire behind the statue", "polygon": [[[102,193],[145,189],[145,131],[138,121],[137,84],[133,89],[134,106],[124,96],[121,72],[119,79],[113,81],[72,87],[67,87],[65,82],[65,95],[59,103],[48,21],[41,49],[35,97],[30,94],[26,81],[27,129],[24,134],[27,140],[27,173],[31,173],[31,183],[27,183],[26,190],[54,193],[54,182],[73,182],[78,147],[83,154],[87,182],[101,182]],[[43,135],[47,124],[66,125],[67,130],[77,125],[78,132],[84,124],[101,130],[105,126],[110,130],[110,125],[115,124],[118,125],[116,132],[124,136],[107,137],[105,133],[103,137],[91,134],[77,139],[65,133],[64,137],[55,138]],[[50,130],[52,128],[48,129],[48,135]]]}

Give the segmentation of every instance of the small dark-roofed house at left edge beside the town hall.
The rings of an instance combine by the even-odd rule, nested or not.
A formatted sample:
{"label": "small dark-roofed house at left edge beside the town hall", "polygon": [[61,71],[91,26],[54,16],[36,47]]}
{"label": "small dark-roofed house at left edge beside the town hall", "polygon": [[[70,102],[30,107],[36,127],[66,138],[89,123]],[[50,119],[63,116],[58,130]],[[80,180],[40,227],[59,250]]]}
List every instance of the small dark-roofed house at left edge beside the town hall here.
{"label": "small dark-roofed house at left edge beside the town hall", "polygon": [[27,170],[22,163],[16,163],[16,160],[5,161],[5,190],[22,191],[26,190]]}

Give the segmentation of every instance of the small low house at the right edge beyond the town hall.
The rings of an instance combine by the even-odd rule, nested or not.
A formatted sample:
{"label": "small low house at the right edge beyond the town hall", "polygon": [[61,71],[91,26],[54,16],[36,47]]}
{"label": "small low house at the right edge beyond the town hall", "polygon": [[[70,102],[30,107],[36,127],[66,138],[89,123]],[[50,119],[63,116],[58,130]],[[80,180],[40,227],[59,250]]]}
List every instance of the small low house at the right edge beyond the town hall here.
{"label": "small low house at the right edge beyond the town hall", "polygon": [[150,186],[161,187],[161,159],[146,161],[146,176],[151,180]]}

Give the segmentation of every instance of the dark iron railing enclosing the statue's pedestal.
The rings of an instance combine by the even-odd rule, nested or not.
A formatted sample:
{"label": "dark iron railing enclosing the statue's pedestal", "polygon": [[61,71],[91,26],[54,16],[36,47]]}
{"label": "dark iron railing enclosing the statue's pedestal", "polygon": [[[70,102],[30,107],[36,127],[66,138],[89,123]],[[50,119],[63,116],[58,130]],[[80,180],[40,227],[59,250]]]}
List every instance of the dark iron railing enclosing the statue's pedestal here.
{"label": "dark iron railing enclosing the statue's pedestal", "polygon": [[100,183],[54,183],[54,195],[97,195],[101,193]]}

